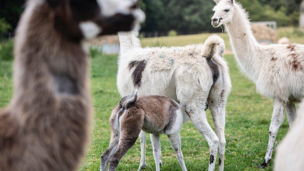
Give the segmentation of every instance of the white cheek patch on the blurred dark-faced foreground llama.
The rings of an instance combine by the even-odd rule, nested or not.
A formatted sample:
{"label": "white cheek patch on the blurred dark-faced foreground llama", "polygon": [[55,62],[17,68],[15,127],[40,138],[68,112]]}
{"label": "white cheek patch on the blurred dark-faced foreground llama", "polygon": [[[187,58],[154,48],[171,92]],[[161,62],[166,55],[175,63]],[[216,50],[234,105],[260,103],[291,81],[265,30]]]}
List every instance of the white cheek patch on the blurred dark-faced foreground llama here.
{"label": "white cheek patch on the blurred dark-faced foreground llama", "polygon": [[86,39],[96,37],[102,31],[102,29],[92,21],[81,22],[79,28]]}

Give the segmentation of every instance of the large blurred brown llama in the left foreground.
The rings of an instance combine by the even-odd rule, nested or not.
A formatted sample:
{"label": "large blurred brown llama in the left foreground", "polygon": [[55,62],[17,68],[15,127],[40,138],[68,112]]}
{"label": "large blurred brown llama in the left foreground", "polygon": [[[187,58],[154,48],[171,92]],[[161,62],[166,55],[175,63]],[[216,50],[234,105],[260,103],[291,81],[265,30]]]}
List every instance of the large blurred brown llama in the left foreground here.
{"label": "large blurred brown llama in the left foreground", "polygon": [[0,112],[0,170],[77,169],[92,111],[81,40],[129,31],[142,14],[127,0],[27,1],[15,38],[13,98]]}

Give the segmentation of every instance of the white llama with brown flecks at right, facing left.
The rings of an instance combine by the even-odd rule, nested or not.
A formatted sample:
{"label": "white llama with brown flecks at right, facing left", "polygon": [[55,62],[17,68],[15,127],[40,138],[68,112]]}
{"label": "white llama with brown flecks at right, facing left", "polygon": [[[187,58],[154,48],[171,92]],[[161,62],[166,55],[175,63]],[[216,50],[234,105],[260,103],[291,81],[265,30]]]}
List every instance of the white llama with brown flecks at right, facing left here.
{"label": "white llama with brown flecks at right, facing left", "polygon": [[304,97],[304,46],[259,45],[250,30],[248,14],[239,3],[235,0],[215,2],[212,25],[225,24],[240,69],[261,94],[274,99],[268,148],[264,163],[258,166],[263,168],[270,162],[273,144],[284,120],[284,109],[289,126],[292,126],[296,116],[295,102]]}

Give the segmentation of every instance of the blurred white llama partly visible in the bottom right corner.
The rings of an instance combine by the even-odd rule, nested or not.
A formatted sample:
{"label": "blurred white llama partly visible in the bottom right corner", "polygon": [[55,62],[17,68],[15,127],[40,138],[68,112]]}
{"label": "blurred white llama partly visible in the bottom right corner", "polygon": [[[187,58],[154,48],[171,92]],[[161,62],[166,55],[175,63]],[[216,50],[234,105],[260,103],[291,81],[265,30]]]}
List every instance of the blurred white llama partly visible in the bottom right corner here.
{"label": "blurred white llama partly visible in the bottom right corner", "polygon": [[277,148],[275,171],[302,171],[304,170],[304,103],[298,110],[297,119],[284,140]]}

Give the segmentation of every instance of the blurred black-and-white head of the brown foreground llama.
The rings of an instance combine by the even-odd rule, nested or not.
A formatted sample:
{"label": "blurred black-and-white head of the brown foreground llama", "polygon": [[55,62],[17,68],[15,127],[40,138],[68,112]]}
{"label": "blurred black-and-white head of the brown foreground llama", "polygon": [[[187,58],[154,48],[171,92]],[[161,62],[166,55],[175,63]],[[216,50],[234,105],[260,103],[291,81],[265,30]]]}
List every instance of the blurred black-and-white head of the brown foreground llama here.
{"label": "blurred black-and-white head of the brown foreground llama", "polygon": [[145,19],[138,3],[131,0],[36,1],[42,2],[54,13],[56,30],[78,39],[131,31]]}

